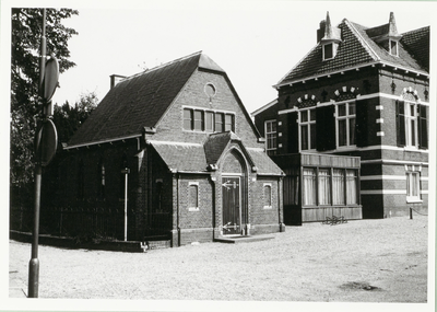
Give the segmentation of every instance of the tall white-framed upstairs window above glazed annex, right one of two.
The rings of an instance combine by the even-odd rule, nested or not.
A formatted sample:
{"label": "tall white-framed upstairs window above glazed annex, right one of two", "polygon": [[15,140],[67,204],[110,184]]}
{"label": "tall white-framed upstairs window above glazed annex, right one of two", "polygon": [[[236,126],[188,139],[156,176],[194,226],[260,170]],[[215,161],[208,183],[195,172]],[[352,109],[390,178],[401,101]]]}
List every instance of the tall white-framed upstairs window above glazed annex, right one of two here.
{"label": "tall white-framed upstairs window above glazed annex, right one of two", "polygon": [[355,103],[336,105],[338,146],[355,146]]}

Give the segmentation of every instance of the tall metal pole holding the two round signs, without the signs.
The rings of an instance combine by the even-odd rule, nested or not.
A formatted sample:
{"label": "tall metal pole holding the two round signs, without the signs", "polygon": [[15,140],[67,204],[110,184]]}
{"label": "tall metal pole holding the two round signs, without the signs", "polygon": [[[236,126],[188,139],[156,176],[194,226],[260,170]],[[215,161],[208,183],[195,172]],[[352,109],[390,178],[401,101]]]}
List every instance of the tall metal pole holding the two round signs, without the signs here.
{"label": "tall metal pole holding the two round signs, without the signs", "polygon": [[[43,94],[43,80],[46,65],[46,9],[43,9],[43,34],[40,43],[39,59],[39,93]],[[44,103],[43,103],[44,104]],[[39,149],[43,150],[44,147]],[[39,208],[40,208],[40,187],[42,187],[42,164],[40,155],[36,155],[35,163],[35,206],[34,206],[34,229],[32,239],[32,258],[28,263],[28,298],[38,298],[39,286],[39,259],[38,259],[38,236],[39,236]]]}

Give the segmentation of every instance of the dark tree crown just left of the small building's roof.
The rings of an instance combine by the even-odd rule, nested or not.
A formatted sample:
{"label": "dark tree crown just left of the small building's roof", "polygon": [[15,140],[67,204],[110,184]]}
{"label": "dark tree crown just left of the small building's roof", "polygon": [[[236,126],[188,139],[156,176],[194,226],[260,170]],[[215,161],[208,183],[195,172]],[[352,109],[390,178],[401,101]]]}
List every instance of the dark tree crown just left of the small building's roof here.
{"label": "dark tree crown just left of the small building's roof", "polygon": [[86,120],[91,112],[97,107],[98,99],[95,92],[81,94],[79,102],[71,106],[67,101],[62,106],[55,105],[54,123],[58,130],[59,145],[68,142],[71,136]]}

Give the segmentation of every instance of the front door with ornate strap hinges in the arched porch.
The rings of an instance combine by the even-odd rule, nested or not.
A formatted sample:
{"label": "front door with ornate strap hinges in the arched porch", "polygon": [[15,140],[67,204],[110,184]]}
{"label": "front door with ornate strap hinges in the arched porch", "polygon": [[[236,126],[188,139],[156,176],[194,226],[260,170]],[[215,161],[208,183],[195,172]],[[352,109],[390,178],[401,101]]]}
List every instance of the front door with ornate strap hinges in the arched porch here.
{"label": "front door with ornate strap hinges in the arched porch", "polygon": [[240,178],[223,177],[223,235],[241,233]]}

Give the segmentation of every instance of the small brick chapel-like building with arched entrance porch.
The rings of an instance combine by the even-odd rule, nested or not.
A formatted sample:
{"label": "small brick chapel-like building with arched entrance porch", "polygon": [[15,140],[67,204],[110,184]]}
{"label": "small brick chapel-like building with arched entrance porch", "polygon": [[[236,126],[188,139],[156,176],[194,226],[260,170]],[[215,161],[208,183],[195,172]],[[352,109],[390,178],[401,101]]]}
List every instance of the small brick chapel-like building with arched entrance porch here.
{"label": "small brick chapel-like building with arched entrance porch", "polygon": [[178,246],[284,230],[284,174],[226,72],[201,53],[111,76],[57,163],[61,233]]}

